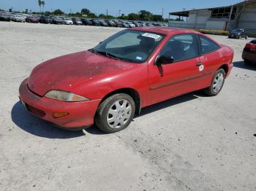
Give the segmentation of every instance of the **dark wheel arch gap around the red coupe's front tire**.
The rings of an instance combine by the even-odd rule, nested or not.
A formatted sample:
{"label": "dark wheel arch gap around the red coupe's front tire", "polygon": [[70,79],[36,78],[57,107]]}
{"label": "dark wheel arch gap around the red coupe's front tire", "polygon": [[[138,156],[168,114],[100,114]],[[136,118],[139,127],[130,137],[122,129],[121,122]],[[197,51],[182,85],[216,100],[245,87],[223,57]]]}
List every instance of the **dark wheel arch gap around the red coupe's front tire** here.
{"label": "dark wheel arch gap around the red coupe's front tire", "polygon": [[137,90],[126,87],[126,88],[121,88],[118,90],[114,90],[102,98],[102,101],[100,101],[99,104],[102,104],[103,101],[105,101],[106,98],[110,97],[111,95],[117,94],[117,93],[126,93],[127,95],[130,95],[133,100],[135,101],[135,114],[140,114],[141,110],[141,104],[140,104],[140,94],[138,93]]}

